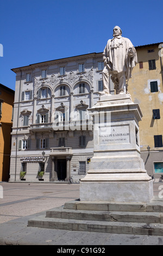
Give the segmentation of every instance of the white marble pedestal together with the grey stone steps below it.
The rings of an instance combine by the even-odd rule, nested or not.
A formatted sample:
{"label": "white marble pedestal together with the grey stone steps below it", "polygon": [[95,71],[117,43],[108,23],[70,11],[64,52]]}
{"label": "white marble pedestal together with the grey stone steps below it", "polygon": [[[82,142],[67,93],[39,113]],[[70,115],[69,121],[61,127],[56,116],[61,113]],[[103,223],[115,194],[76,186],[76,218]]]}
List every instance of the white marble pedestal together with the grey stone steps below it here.
{"label": "white marble pedestal together with the grey stone steps below it", "polygon": [[163,235],[163,200],[153,197],[140,157],[139,105],[127,94],[102,96],[90,111],[94,154],[80,181],[80,199],[29,220],[28,226]]}

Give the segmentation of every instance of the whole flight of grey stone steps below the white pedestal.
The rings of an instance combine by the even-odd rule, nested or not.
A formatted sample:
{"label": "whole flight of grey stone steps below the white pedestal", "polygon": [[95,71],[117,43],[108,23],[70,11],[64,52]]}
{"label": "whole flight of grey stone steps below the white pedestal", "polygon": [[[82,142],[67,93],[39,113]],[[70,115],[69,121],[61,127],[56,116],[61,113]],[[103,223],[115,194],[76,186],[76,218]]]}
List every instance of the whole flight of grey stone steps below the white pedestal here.
{"label": "whole flight of grey stone steps below the white pedestal", "polygon": [[117,234],[162,235],[163,201],[151,203],[67,202],[28,221],[38,228]]}

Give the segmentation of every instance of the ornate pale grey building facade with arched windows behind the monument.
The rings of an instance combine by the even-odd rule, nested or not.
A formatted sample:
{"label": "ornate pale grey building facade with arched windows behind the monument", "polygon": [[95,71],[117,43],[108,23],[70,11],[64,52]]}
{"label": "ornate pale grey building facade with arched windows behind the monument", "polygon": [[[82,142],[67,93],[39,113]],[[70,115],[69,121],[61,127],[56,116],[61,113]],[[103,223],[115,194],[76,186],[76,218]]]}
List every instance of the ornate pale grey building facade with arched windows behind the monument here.
{"label": "ornate pale grey building facade with arched windows behind the monument", "polygon": [[79,182],[85,176],[93,156],[89,108],[103,90],[102,70],[102,53],[12,69],[16,87],[9,181],[67,182],[72,176]]}

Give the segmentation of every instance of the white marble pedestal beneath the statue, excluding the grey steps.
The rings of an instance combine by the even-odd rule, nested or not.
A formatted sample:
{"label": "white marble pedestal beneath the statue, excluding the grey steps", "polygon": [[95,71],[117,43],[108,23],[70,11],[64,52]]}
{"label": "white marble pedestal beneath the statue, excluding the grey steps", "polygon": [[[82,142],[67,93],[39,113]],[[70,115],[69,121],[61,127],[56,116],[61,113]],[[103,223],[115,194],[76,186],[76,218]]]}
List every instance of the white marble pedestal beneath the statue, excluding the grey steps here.
{"label": "white marble pedestal beneath the statue, excluding the grey steps", "polygon": [[94,155],[80,180],[80,201],[150,202],[153,182],[140,157],[142,113],[128,94],[101,96],[94,116]]}

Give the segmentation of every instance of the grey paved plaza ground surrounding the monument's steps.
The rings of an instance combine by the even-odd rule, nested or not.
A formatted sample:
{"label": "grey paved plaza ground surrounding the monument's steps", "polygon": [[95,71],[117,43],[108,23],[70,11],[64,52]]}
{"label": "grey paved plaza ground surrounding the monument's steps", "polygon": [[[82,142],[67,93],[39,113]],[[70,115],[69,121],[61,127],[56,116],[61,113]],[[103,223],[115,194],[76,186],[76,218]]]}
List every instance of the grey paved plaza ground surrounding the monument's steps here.
{"label": "grey paved plaza ground surrounding the monument's steps", "polygon": [[[28,220],[79,198],[79,184],[1,182],[0,245],[163,245],[163,236],[124,235],[28,227]],[[160,192],[154,183],[154,196]],[[1,193],[2,197],[2,193]]]}

